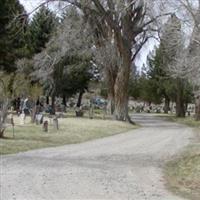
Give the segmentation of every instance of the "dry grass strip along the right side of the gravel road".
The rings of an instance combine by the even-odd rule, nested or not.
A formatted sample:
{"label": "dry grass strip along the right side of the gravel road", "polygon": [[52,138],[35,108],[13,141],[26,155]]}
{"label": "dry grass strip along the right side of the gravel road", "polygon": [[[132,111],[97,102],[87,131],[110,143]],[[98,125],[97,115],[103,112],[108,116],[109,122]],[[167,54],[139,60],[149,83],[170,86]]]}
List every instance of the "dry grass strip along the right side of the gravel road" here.
{"label": "dry grass strip along the right side of the gravel road", "polygon": [[170,161],[165,168],[167,187],[174,193],[191,200],[200,199],[200,122],[192,118],[176,119],[173,121],[194,128],[196,138],[193,144],[178,158]]}

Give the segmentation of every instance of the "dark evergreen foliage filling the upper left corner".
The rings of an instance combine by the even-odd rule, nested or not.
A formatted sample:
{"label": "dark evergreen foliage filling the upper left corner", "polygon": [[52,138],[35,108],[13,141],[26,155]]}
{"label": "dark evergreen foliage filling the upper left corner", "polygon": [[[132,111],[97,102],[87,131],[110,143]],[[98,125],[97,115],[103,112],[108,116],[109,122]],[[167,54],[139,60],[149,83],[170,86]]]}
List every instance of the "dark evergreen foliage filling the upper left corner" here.
{"label": "dark evergreen foliage filling the upper left corner", "polygon": [[26,14],[18,0],[0,1],[0,24],[0,69],[12,72],[16,59],[26,54]]}

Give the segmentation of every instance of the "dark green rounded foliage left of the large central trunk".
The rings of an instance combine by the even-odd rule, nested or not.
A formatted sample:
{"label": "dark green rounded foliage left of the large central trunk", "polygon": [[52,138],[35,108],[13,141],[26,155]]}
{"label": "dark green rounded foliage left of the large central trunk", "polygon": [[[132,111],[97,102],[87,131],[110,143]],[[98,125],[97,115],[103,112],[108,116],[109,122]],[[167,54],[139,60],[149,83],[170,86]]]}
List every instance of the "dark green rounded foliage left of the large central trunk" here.
{"label": "dark green rounded foliage left of the large central trunk", "polygon": [[66,56],[55,68],[56,94],[70,97],[86,90],[92,77],[90,69],[91,63],[88,58],[78,55]]}

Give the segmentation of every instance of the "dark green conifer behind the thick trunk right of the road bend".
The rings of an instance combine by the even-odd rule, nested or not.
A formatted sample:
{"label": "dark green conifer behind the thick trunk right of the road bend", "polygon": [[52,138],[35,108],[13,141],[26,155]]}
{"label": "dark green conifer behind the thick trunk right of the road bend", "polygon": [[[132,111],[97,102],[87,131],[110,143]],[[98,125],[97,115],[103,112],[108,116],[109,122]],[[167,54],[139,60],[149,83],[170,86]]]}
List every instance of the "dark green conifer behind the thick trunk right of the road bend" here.
{"label": "dark green conifer behind the thick trunk right of the road bend", "polygon": [[150,97],[153,95],[161,101],[164,100],[164,112],[168,113],[170,101],[176,102],[179,92],[183,95],[181,101],[186,109],[187,104],[192,101],[192,90],[191,84],[185,79],[181,81],[181,84],[184,85],[182,89],[177,86],[177,77],[168,71],[169,61],[164,62],[168,56],[166,53],[163,46],[160,45],[156,49],[155,55],[148,57],[148,93],[150,93]]}

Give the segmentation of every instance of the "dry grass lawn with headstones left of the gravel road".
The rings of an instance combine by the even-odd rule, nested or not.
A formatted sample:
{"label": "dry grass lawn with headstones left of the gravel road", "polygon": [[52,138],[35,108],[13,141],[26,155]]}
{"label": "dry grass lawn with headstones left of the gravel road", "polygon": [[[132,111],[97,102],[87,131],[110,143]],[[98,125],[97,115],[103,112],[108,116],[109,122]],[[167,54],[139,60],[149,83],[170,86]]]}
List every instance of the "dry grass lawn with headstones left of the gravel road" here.
{"label": "dry grass lawn with headstones left of the gravel road", "polygon": [[15,117],[15,137],[12,128],[8,127],[5,138],[0,139],[0,154],[12,154],[31,149],[55,147],[66,144],[81,143],[84,141],[111,136],[136,128],[128,123],[112,120],[86,118],[60,118],[59,130],[55,131],[49,125],[48,133],[42,131],[42,125],[29,123],[20,125],[19,118]]}

